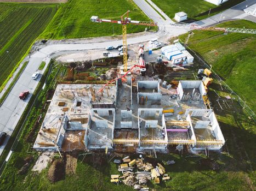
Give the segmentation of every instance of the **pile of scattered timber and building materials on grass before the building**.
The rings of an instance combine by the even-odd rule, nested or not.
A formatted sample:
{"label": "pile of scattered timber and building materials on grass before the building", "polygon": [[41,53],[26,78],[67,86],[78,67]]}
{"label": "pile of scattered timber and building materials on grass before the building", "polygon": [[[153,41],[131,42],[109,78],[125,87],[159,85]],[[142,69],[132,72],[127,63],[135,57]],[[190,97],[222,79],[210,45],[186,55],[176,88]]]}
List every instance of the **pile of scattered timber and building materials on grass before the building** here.
{"label": "pile of scattered timber and building materials on grass before the building", "polygon": [[[122,172],[120,175],[111,175],[111,182],[119,184],[121,181],[134,187],[136,190],[149,190],[147,188],[147,181],[154,180],[156,184],[160,183],[160,177],[163,181],[170,179],[166,174],[166,169],[157,163],[154,167],[151,163],[145,163],[144,158],[131,160],[129,156],[124,157],[123,164],[119,165],[118,171]],[[136,172],[134,172],[136,170]]]}

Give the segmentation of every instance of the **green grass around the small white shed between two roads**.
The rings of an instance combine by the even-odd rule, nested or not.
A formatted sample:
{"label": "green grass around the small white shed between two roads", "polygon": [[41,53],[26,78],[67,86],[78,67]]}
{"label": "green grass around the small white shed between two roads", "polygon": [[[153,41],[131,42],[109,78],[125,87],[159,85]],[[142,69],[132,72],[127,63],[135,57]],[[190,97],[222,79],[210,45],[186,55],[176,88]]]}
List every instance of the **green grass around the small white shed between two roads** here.
{"label": "green grass around the small white shed between two roads", "polygon": [[166,13],[170,19],[174,18],[175,13],[184,11],[187,14],[187,18],[201,20],[208,16],[209,9],[211,9],[210,15],[214,15],[220,11],[243,2],[243,0],[227,1],[219,6],[203,0],[152,0],[152,2],[155,3],[157,7],[162,9],[162,11],[164,11],[164,13]]}

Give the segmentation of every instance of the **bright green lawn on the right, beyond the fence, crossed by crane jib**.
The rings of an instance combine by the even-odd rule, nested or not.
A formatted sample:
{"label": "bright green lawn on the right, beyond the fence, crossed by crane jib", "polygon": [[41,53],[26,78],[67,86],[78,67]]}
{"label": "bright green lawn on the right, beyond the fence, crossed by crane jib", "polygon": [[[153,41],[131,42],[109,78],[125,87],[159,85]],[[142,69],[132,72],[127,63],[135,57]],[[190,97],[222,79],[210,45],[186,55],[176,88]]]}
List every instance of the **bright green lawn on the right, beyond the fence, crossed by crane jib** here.
{"label": "bright green lawn on the right, beyond the fence, crossed by crane jib", "polygon": [[[250,21],[230,21],[218,26],[234,28],[256,28]],[[187,45],[199,53],[213,70],[223,77],[229,85],[247,104],[256,111],[256,38],[255,34],[229,33],[215,31],[193,31]],[[181,35],[185,41],[187,34]]]}

